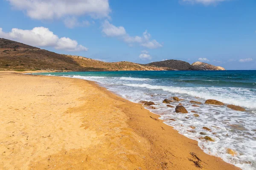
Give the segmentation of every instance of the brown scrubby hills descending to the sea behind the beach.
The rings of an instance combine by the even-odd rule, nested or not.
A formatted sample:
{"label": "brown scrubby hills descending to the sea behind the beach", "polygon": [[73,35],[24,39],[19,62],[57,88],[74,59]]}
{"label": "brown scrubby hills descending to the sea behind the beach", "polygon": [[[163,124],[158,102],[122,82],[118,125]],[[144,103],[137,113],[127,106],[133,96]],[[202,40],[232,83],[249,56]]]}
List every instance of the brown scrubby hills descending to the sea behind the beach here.
{"label": "brown scrubby hills descending to the sea behind the beach", "polygon": [[203,65],[199,67],[198,65],[190,65],[188,62],[172,59],[161,62],[151,62],[149,64],[138,64],[126,61],[102,62],[81,56],[57,54],[20,42],[0,38],[0,70],[161,71],[206,69]]}

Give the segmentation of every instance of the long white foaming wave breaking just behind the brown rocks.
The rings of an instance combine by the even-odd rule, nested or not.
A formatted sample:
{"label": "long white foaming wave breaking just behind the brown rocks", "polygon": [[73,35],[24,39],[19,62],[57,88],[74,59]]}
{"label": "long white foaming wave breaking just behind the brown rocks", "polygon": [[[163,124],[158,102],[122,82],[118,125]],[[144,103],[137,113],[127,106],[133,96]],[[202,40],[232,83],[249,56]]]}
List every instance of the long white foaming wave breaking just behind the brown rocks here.
{"label": "long white foaming wave breaking just behind the brown rocks", "polygon": [[[188,94],[191,96],[200,97],[203,99],[215,99],[227,104],[239,105],[246,108],[256,108],[256,98],[255,94],[250,94],[250,89],[237,88],[235,91],[240,93],[248,93],[251,95],[250,98],[244,98],[239,96],[239,94],[231,97],[229,95],[229,89],[227,88],[181,88],[181,87],[169,87],[169,86],[161,86],[161,85],[149,85],[149,84],[124,84],[126,86],[131,87],[140,87],[140,88],[148,88],[148,89],[158,89],[163,91],[169,91],[175,94]],[[218,92],[216,91],[218,90]],[[231,90],[231,88],[230,88]],[[233,89],[232,89],[233,91]]]}

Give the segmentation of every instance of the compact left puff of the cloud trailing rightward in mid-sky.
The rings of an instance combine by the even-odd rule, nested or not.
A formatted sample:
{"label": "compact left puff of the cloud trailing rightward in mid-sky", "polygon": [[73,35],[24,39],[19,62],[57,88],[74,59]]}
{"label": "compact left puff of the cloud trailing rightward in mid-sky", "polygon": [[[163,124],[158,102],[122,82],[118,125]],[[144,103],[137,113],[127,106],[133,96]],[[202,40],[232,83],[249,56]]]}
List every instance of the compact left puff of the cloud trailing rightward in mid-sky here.
{"label": "compact left puff of the cloud trailing rightward in mid-sky", "polygon": [[108,37],[118,37],[126,34],[125,28],[122,26],[116,27],[113,24],[109,23],[108,20],[105,20],[103,25],[102,32]]}

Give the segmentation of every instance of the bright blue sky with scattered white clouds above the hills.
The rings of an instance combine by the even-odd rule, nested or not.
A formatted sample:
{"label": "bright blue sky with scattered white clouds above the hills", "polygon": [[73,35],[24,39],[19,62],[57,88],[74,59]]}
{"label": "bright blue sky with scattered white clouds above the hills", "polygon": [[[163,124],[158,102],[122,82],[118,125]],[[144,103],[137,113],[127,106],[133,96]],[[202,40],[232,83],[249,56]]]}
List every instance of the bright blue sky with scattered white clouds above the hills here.
{"label": "bright blue sky with scattered white clouds above the hills", "polygon": [[0,0],[0,37],[107,62],[256,70],[256,0]]}

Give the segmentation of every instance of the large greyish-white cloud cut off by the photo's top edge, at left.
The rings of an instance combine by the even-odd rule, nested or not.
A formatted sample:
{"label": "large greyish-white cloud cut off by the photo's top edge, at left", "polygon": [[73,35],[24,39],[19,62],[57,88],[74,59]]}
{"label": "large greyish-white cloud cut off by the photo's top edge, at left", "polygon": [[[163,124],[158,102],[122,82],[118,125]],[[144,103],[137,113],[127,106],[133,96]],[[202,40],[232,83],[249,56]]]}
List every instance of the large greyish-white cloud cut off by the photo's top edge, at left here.
{"label": "large greyish-white cloud cut off by the photo's top edge, at left", "polygon": [[108,17],[108,0],[8,0],[10,4],[36,20],[52,20],[67,16]]}

